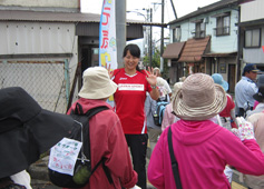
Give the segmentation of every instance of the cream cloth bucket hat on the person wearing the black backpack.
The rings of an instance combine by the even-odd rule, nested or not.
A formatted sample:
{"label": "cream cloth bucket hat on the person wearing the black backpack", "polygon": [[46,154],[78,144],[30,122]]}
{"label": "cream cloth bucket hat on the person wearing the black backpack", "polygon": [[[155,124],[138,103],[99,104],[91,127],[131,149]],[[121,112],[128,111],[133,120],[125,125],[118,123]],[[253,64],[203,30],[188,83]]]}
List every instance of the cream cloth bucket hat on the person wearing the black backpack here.
{"label": "cream cloth bucket hat on the person wearing the black backpack", "polygon": [[85,99],[104,99],[110,97],[117,90],[117,84],[110,80],[108,71],[104,67],[90,67],[84,71],[84,86],[78,93]]}

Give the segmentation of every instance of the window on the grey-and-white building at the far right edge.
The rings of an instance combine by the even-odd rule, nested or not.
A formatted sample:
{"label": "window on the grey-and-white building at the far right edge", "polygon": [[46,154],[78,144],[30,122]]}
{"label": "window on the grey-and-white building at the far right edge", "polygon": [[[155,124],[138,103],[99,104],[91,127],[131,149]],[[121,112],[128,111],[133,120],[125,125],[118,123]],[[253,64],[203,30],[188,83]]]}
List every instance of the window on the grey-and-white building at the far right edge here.
{"label": "window on the grey-and-white building at the far right edge", "polygon": [[252,29],[245,31],[245,48],[261,47],[261,29]]}

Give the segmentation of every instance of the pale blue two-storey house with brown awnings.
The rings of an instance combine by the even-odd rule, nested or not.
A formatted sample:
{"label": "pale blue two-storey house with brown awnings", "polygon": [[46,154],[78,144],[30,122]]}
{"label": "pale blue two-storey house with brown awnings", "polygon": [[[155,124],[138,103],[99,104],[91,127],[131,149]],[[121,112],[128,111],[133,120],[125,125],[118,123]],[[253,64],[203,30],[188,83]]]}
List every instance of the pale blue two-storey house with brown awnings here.
{"label": "pale blue two-storey house with brown awnings", "polygon": [[221,73],[234,92],[237,74],[237,0],[222,0],[198,8],[182,18],[168,23],[170,42],[180,46],[182,50],[170,58],[170,81],[176,82],[183,76],[195,72],[208,74]]}

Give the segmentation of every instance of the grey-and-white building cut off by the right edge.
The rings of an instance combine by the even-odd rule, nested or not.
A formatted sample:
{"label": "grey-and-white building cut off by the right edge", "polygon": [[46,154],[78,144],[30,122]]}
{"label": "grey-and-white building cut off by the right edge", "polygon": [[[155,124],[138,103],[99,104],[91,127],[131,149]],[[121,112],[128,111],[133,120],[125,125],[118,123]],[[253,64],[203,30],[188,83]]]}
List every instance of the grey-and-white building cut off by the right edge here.
{"label": "grey-and-white building cut off by the right edge", "polygon": [[242,72],[246,63],[256,63],[264,70],[264,1],[242,1],[239,19],[239,60]]}

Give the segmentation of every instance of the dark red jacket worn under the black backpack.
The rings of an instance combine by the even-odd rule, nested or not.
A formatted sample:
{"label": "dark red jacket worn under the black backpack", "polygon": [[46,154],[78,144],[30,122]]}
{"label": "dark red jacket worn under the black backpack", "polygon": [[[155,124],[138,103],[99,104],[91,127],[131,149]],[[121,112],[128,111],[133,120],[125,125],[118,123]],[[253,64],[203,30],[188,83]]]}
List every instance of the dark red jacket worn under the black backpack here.
{"label": "dark red jacket worn under the black backpack", "polygon": [[[104,100],[80,98],[76,102],[82,106],[84,112],[99,106],[109,108],[109,110],[104,110],[90,119],[90,151],[91,167],[95,167],[102,157],[106,159],[105,165],[110,171],[115,186],[109,183],[100,165],[90,177],[89,183],[82,189],[134,187],[137,183],[137,172],[133,169],[121,123],[113,108]],[[69,109],[68,115],[76,107],[76,102]]]}

